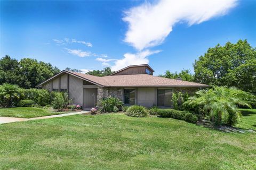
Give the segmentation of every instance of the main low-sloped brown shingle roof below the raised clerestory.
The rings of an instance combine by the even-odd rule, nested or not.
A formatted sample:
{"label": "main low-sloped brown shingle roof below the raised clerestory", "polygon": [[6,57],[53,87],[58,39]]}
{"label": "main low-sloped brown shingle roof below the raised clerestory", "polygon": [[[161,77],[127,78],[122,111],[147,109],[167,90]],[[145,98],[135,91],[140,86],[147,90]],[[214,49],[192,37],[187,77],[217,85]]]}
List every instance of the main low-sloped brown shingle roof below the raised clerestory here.
{"label": "main low-sloped brown shingle roof below the raised clerestory", "polygon": [[209,87],[206,84],[155,77],[148,74],[97,77],[83,73],[70,73],[106,87]]}

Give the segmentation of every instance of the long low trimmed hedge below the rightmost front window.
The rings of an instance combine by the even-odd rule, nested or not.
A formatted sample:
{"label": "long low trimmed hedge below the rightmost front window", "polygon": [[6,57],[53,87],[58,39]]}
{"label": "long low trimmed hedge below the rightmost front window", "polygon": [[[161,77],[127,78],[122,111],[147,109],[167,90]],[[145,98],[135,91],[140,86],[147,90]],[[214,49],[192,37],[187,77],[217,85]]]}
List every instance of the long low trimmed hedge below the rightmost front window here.
{"label": "long low trimmed hedge below the rightmost front window", "polygon": [[158,109],[157,111],[160,117],[171,117],[178,120],[183,120],[190,123],[196,123],[198,120],[197,116],[186,112],[186,111],[177,111],[175,109]]}

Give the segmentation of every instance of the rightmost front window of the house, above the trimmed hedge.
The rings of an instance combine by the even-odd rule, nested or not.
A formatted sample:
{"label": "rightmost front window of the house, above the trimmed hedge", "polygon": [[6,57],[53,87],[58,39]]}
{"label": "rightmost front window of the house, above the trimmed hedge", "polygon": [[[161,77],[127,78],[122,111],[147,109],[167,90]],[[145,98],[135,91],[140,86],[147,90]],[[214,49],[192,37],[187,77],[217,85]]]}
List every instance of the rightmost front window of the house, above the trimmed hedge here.
{"label": "rightmost front window of the house, above the trimmed hedge", "polygon": [[159,89],[157,90],[157,106],[172,106],[172,90]]}

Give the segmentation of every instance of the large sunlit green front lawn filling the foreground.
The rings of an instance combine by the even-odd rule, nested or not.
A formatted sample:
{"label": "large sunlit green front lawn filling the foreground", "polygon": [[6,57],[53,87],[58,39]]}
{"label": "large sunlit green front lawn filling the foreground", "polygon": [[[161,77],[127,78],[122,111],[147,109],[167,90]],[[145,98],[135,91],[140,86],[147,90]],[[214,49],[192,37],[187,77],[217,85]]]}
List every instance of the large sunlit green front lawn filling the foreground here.
{"label": "large sunlit green front lawn filling the foreground", "polygon": [[[244,118],[255,123],[253,112]],[[256,169],[256,133],[172,118],[74,115],[0,124],[0,134],[0,169]]]}

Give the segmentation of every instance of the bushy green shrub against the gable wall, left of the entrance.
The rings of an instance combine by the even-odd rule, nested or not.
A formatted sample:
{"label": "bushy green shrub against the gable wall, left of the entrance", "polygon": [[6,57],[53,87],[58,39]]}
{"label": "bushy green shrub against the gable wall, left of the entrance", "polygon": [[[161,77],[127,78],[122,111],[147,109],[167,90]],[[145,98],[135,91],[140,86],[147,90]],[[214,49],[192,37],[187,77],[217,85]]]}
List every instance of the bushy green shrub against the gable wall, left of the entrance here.
{"label": "bushy green shrub against the gable wall, left of the entrance", "polygon": [[57,92],[52,101],[52,107],[54,109],[58,109],[58,111],[62,111],[64,108],[71,103],[71,100],[68,99],[67,92]]}

